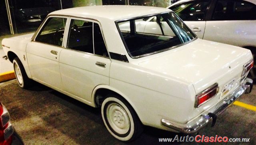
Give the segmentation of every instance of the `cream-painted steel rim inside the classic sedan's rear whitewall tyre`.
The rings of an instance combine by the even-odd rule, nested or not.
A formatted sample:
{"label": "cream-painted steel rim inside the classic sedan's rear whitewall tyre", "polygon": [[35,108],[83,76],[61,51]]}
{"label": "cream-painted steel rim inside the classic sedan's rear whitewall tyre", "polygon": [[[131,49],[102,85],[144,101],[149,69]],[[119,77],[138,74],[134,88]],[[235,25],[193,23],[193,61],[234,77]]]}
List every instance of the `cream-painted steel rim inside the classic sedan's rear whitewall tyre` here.
{"label": "cream-painted steel rim inside the classic sedan's rear whitewall tyre", "polygon": [[116,133],[125,134],[130,129],[129,117],[122,106],[110,103],[106,109],[108,123]]}

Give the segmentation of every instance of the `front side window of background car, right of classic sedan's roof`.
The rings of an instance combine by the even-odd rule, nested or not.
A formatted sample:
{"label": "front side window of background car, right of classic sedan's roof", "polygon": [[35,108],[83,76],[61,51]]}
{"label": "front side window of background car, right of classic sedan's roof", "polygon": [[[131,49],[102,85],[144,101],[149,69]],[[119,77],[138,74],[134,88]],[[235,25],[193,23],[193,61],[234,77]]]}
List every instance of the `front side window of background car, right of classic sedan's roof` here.
{"label": "front side window of background car, right of classic sedan's roof", "polygon": [[210,0],[178,4],[172,9],[183,21],[204,21]]}

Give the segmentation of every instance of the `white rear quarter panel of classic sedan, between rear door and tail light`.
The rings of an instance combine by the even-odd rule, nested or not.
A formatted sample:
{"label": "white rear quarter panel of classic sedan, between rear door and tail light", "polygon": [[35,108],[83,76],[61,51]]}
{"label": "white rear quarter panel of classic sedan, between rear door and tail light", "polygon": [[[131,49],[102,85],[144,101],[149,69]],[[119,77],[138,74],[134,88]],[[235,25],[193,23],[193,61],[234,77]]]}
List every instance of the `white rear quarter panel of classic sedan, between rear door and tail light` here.
{"label": "white rear quarter panel of classic sedan, between rear door and tail light", "polygon": [[192,119],[192,84],[159,75],[140,66],[112,60],[110,87],[122,92],[144,125],[166,129],[161,119],[186,123]]}

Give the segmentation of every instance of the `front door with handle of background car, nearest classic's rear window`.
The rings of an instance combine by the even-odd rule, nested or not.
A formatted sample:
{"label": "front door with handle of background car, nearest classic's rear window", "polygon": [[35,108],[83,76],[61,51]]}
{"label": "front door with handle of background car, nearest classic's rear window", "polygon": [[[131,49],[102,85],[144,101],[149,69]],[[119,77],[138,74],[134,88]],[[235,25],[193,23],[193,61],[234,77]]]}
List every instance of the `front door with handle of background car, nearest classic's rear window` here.
{"label": "front door with handle of background car, nearest classic's rear window", "polygon": [[206,26],[206,12],[210,0],[192,0],[171,6],[185,24],[198,36],[203,39]]}

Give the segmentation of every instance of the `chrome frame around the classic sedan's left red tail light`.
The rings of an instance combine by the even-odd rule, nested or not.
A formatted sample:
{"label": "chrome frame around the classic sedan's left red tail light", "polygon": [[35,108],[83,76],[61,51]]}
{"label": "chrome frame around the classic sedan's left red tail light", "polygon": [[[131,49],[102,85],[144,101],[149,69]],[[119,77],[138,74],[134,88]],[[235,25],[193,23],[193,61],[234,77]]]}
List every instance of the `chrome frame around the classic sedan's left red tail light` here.
{"label": "chrome frame around the classic sedan's left red tail light", "polygon": [[[212,97],[210,97],[209,99],[207,99],[206,101],[204,101],[203,103],[201,103],[200,105],[197,104],[198,102],[198,96],[202,95],[203,93],[209,91],[208,93],[212,92],[214,89],[217,89],[216,90],[216,94]],[[219,92],[219,86],[218,86],[218,83],[214,83],[213,85],[211,85],[210,87],[208,87],[207,89],[201,91],[200,93],[198,93],[195,97],[195,104],[194,104],[194,107],[197,108],[197,107],[200,107],[201,105],[205,104],[206,102],[210,101],[212,98],[214,98],[216,95],[218,95],[218,92]],[[206,93],[206,94],[208,94]]]}

